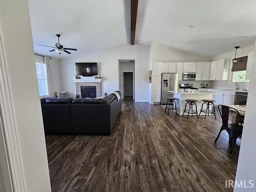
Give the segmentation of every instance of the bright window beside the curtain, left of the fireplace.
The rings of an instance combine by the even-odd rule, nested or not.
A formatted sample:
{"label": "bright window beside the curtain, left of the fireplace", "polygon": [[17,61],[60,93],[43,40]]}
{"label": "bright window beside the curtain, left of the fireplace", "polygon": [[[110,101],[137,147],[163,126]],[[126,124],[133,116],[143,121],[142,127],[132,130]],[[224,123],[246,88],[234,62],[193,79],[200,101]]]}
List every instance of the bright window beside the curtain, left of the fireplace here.
{"label": "bright window beside the curtain, left of the fireplace", "polygon": [[40,97],[48,96],[46,64],[36,62],[36,73]]}

